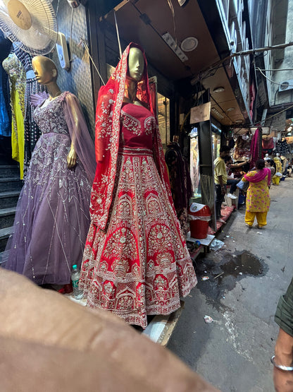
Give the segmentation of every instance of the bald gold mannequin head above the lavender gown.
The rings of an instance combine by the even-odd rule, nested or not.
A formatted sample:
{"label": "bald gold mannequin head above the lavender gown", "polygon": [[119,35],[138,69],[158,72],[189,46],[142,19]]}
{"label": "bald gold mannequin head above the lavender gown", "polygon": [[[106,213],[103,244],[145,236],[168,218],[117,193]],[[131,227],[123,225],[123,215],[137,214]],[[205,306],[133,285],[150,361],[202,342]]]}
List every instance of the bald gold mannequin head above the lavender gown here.
{"label": "bald gold mannequin head above the lavender gown", "polygon": [[54,62],[48,59],[48,57],[35,56],[32,59],[32,69],[39,84],[56,83],[58,71]]}

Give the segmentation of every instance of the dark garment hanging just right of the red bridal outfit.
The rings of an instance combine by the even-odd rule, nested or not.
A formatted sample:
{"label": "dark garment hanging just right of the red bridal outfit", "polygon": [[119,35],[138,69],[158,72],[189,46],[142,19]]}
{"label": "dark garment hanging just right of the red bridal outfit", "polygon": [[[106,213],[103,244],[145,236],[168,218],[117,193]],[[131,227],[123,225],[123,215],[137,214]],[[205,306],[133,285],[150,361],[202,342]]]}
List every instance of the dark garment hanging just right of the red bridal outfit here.
{"label": "dark garment hanging just right of the red bridal outfit", "polygon": [[177,143],[168,144],[165,159],[168,166],[170,188],[177,218],[180,222],[182,233],[187,235],[190,230],[189,223],[187,222],[187,209],[189,206],[189,198],[192,197],[188,164],[182,156],[180,145]]}

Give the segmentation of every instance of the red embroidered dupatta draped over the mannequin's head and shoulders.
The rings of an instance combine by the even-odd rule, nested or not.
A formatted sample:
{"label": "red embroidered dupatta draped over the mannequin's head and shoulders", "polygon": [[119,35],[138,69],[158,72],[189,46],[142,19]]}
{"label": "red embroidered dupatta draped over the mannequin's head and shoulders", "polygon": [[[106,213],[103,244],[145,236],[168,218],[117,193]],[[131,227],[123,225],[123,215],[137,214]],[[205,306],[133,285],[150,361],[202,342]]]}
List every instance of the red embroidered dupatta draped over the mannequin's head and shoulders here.
{"label": "red embroidered dupatta draped over the mannequin's head and shoulders", "polygon": [[[101,230],[105,229],[108,222],[109,209],[113,199],[120,140],[120,112],[125,93],[125,79],[128,70],[128,54],[130,47],[137,47],[144,55],[144,74],[142,76],[142,82],[139,83],[137,88],[137,94],[144,105],[150,108],[152,114],[154,114],[154,117],[156,118],[155,111],[151,105],[149,78],[147,75],[147,63],[144,50],[138,44],[131,42],[123,52],[122,58],[119,61],[118,66],[116,66],[111,78],[106,85],[100,88],[96,105],[97,165],[96,175],[92,186],[89,212],[91,214],[92,222]],[[169,201],[173,206],[158,126],[156,126],[153,150],[158,173],[166,188]]]}

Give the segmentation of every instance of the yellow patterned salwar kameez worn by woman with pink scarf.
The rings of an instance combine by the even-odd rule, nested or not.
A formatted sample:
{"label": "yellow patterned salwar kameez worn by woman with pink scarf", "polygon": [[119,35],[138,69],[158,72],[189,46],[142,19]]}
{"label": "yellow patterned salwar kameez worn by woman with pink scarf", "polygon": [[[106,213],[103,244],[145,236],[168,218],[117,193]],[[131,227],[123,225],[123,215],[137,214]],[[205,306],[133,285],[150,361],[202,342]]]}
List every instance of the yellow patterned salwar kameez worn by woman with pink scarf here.
{"label": "yellow patterned salwar kameez worn by woman with pink scarf", "polygon": [[[249,181],[249,178],[257,174],[256,170],[246,174],[242,181]],[[259,182],[249,182],[249,189],[247,190],[247,202],[245,212],[245,223],[251,227],[256,218],[258,227],[266,226],[266,215],[270,208],[270,194],[268,191],[268,175]]]}

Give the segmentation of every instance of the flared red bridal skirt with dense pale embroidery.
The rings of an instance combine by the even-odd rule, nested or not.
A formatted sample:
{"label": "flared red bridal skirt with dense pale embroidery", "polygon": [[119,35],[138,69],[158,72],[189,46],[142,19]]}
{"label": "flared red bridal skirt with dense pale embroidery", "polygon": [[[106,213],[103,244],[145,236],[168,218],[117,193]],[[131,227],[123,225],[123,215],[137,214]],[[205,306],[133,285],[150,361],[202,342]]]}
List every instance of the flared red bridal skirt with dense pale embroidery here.
{"label": "flared red bridal skirt with dense pale embroidery", "polygon": [[118,173],[106,230],[89,227],[80,287],[87,306],[146,328],[146,315],[178,309],[197,277],[152,151],[124,148]]}

